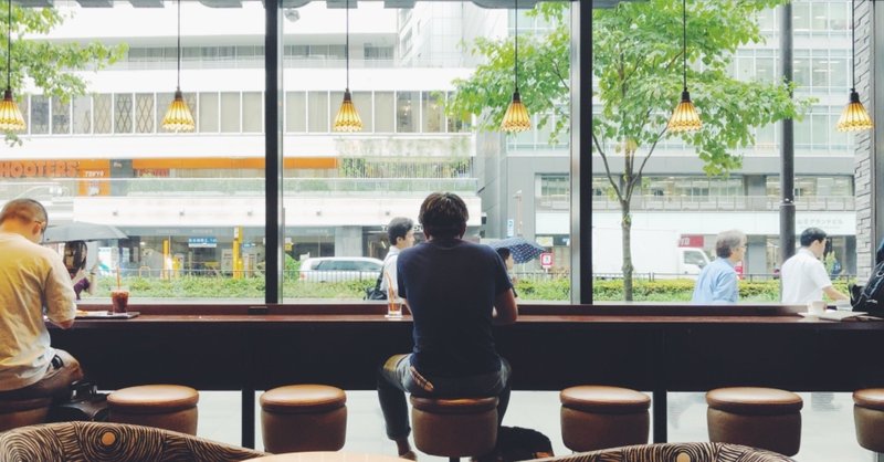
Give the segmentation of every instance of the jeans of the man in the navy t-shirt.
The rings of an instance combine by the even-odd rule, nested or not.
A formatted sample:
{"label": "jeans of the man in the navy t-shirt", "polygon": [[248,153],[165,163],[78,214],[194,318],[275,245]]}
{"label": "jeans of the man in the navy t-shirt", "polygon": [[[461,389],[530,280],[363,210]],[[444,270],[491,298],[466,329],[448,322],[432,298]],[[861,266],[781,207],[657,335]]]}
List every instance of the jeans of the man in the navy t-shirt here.
{"label": "jeans of the man in the navy t-shirt", "polygon": [[[378,399],[387,437],[391,440],[411,433],[406,392],[428,398],[497,397],[497,424],[509,405],[509,363],[501,358],[501,370],[466,377],[422,377],[412,374],[411,355],[396,355],[378,369]],[[429,384],[428,384],[429,382]],[[430,385],[431,384],[431,385]]]}

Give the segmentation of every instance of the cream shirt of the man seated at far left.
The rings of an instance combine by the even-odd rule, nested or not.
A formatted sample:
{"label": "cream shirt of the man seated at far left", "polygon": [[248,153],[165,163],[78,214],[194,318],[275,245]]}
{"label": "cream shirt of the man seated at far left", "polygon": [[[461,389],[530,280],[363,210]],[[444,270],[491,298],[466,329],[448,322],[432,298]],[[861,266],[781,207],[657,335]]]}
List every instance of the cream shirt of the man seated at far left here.
{"label": "cream shirt of the man seated at far left", "polygon": [[55,355],[43,306],[50,319],[64,323],[76,315],[76,295],[52,249],[0,232],[0,391],[6,391],[43,378]]}

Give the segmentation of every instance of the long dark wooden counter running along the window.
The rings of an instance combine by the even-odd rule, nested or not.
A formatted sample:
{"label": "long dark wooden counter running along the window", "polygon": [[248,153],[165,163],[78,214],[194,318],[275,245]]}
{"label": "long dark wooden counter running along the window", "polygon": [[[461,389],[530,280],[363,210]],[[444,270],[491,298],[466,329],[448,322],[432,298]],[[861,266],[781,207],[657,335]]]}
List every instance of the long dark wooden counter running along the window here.
{"label": "long dark wooden counter running along the window", "polygon": [[[107,309],[82,305],[82,309]],[[774,305],[528,305],[496,327],[513,387],[580,384],[652,391],[653,439],[666,440],[666,391],[754,385],[793,391],[884,386],[884,322],[807,321]],[[411,322],[378,303],[131,305],[133,319],[53,329],[103,389],[171,382],[242,392],[242,443],[254,447],[254,391],[318,382],[373,389],[383,359],[411,349]],[[456,339],[453,339],[456,342]],[[517,405],[516,405],[517,406]]]}

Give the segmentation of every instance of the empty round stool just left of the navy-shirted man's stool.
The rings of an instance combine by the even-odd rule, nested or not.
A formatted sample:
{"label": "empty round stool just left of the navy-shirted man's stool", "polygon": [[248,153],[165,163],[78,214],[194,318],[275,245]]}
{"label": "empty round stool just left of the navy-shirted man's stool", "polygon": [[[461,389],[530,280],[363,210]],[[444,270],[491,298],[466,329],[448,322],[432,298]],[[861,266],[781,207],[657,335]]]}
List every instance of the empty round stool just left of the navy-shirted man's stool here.
{"label": "empty round stool just left of the navy-shirted man's stool", "polygon": [[290,385],[261,395],[267,452],[337,451],[347,437],[347,395],[327,385]]}

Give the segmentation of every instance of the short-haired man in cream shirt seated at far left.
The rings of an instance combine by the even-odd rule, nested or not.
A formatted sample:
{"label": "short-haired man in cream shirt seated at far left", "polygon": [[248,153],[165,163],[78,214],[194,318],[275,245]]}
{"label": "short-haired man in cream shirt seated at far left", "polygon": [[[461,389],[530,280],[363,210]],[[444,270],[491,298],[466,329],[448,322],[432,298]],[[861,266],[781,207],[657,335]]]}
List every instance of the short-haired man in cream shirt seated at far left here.
{"label": "short-haired man in cream shirt seated at far left", "polygon": [[76,295],[61,255],[39,244],[46,210],[14,199],[0,211],[0,400],[64,398],[83,378],[80,363],[50,346],[43,308],[61,328],[74,325]]}

